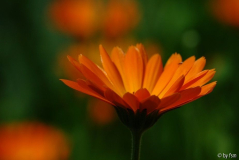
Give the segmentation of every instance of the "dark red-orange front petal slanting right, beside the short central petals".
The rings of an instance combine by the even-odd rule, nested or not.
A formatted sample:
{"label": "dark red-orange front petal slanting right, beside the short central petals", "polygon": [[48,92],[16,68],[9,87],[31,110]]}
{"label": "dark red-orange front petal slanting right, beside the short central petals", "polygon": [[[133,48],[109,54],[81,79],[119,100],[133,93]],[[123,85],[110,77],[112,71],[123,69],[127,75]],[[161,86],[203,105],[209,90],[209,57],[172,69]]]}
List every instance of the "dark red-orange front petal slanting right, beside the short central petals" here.
{"label": "dark red-orange front petal slanting right, beside the short central petals", "polygon": [[171,96],[160,99],[161,102],[160,102],[159,106],[157,107],[157,109],[161,110],[165,107],[168,107],[171,104],[173,104],[174,102],[176,102],[177,100],[179,100],[180,98],[181,98],[180,93],[174,93]]}

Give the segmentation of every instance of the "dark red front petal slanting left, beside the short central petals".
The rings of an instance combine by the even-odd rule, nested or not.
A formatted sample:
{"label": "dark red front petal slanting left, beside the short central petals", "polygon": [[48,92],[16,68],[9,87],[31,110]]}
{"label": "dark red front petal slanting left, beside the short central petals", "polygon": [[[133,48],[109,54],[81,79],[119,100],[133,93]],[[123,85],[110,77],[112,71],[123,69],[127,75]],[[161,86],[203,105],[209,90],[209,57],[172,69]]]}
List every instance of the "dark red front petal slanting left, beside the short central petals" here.
{"label": "dark red front petal slanting left, beside the short central petals", "polygon": [[113,102],[116,107],[122,107],[122,108],[130,108],[131,107],[114,91],[110,89],[106,89],[104,92],[105,98],[108,99],[109,101]]}

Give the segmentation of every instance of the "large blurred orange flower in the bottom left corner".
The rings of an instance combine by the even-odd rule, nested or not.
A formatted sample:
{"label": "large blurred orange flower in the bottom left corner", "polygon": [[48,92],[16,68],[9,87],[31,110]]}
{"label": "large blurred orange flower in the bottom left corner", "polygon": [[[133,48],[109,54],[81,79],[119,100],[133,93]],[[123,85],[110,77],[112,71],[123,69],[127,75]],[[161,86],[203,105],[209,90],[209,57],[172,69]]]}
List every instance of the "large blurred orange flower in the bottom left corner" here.
{"label": "large blurred orange flower in the bottom left corner", "polygon": [[1,126],[1,160],[66,160],[69,146],[64,135],[40,123]]}

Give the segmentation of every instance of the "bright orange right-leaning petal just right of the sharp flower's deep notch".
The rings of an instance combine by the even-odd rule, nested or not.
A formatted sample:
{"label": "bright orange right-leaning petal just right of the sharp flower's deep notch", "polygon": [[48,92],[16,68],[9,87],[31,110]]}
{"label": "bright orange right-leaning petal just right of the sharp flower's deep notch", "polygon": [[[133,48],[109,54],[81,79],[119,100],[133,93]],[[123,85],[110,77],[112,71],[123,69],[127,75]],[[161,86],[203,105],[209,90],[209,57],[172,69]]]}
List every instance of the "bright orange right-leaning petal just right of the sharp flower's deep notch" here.
{"label": "bright orange right-leaning petal just right of the sharp flower's deep notch", "polygon": [[163,73],[159,77],[153,89],[153,92],[152,92],[153,95],[159,95],[162,92],[162,90],[166,87],[166,85],[169,83],[169,81],[173,77],[180,62],[182,62],[182,57],[180,56],[180,54],[175,53],[169,58]]}

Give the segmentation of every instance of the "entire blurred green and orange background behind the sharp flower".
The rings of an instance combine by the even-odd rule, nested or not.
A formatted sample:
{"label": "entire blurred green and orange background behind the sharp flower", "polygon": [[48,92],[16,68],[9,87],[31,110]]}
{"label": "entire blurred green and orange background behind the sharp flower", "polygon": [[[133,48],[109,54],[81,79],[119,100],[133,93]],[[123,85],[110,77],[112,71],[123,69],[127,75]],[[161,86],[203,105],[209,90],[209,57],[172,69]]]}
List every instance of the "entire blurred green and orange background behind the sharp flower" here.
{"label": "entire blurred green and orange background behind the sharp flower", "polygon": [[142,43],[163,62],[205,56],[214,91],[168,112],[143,136],[142,160],[239,154],[238,0],[8,0],[0,5],[0,159],[127,160],[131,137],[113,108],[59,81],[66,55],[100,65],[98,46]]}

